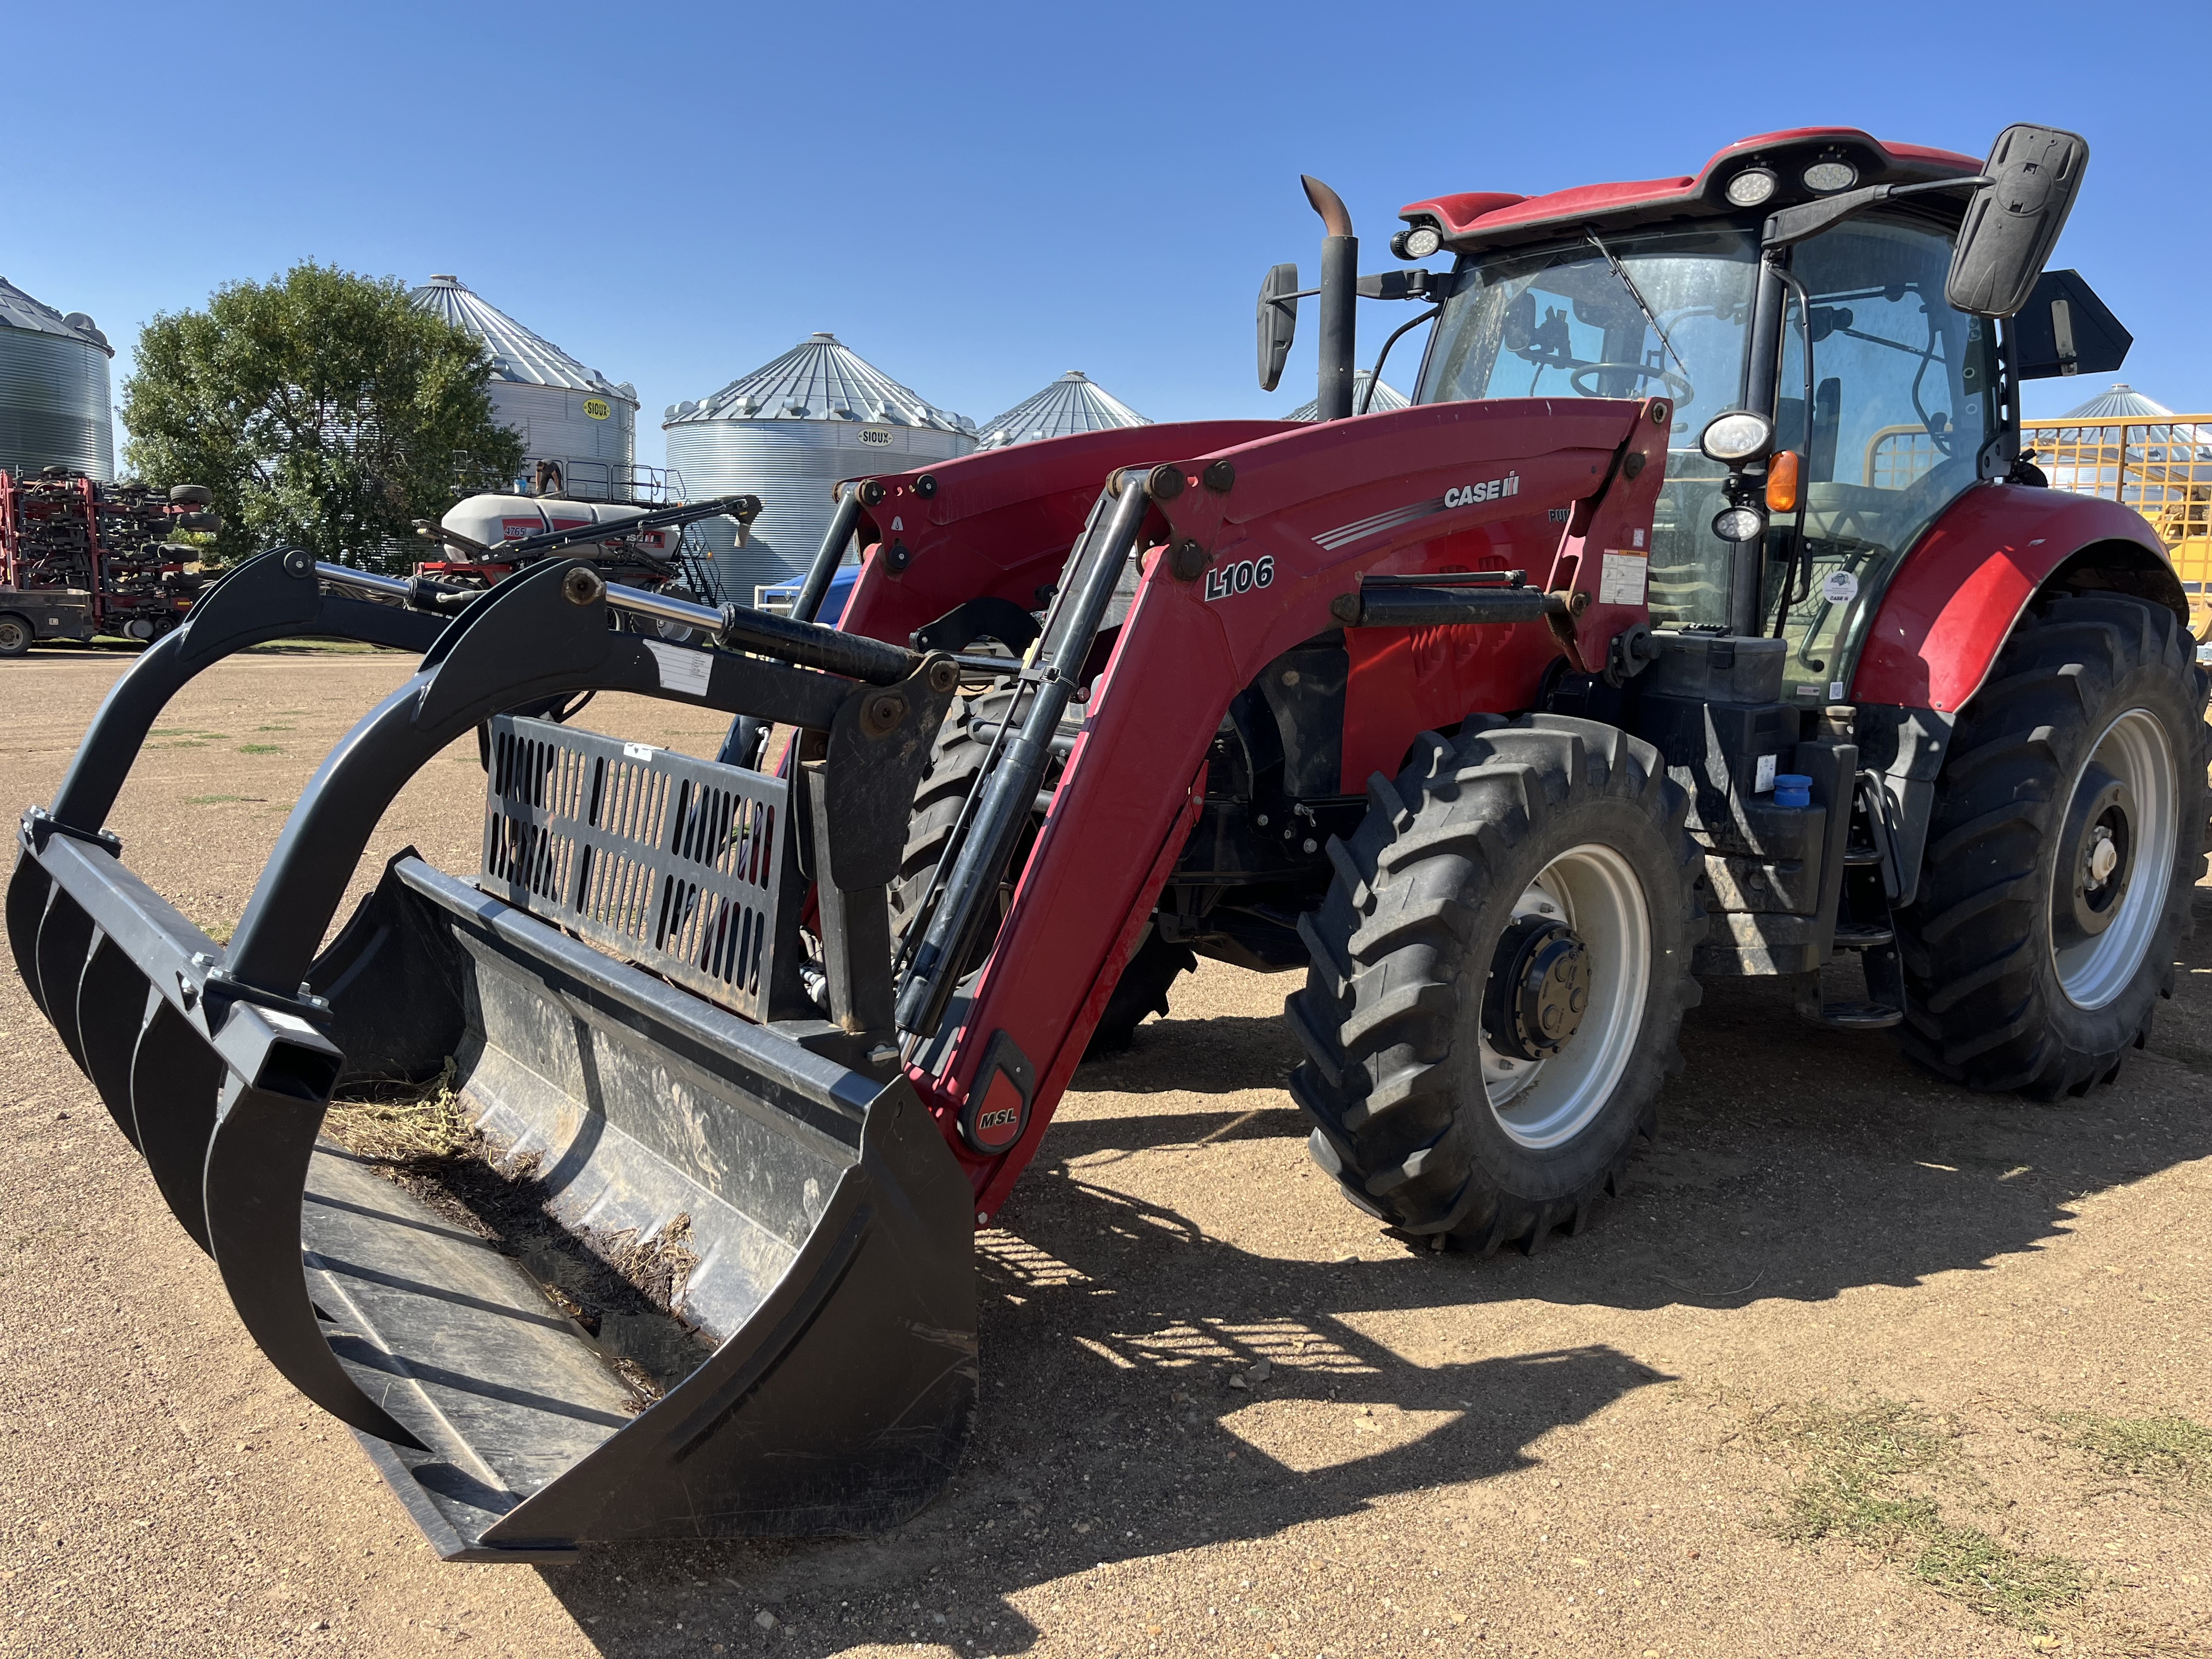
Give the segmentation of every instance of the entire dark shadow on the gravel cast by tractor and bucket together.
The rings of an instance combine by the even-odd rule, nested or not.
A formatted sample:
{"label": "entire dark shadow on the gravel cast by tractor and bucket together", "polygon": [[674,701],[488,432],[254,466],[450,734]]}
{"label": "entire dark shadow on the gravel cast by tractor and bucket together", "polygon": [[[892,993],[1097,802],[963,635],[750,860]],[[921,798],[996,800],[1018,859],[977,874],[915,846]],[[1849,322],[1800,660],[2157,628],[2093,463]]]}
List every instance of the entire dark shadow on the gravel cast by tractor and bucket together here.
{"label": "entire dark shadow on the gravel cast by tractor and bucket together", "polygon": [[[1130,1051],[1082,1068],[1086,1102],[1053,1124],[1011,1230],[980,1237],[982,1402],[942,1500],[885,1537],[597,1548],[544,1582],[619,1659],[1020,1655],[1044,1641],[1013,1601],[1026,1590],[1533,1467],[1542,1436],[1668,1378],[1613,1343],[1413,1365],[1363,1332],[1515,1301],[1829,1301],[2046,1248],[2079,1197],[2212,1157],[2212,894],[2197,909],[2150,1053],[2117,1086],[2051,1106],[1971,1095],[1887,1037],[1807,1026],[1783,987],[1708,987],[1661,1144],[1582,1239],[1533,1256],[1380,1241],[1365,1261],[1272,1256],[1117,1190],[1155,1183],[1148,1152],[1263,1141],[1261,1212],[1340,1201],[1318,1175],[1294,1177],[1305,1126],[1281,1093],[1294,1046],[1245,1013],[1259,993],[1212,1020],[1146,1024]],[[1183,1099],[1124,1110],[1115,1095]],[[1232,1387],[1259,1360],[1270,1374]],[[1192,1571],[1232,1564],[1206,1555]]]}

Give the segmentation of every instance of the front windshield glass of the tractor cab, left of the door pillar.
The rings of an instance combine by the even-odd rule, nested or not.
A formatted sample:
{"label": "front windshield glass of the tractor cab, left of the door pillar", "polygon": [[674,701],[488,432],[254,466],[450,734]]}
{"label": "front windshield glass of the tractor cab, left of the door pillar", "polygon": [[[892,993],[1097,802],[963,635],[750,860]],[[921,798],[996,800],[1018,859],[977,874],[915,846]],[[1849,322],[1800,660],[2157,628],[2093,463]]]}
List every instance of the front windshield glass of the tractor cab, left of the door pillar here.
{"label": "front windshield glass of the tractor cab, left of the door pillar", "polygon": [[1710,526],[1728,469],[1705,460],[1697,434],[1743,394],[1759,241],[1739,226],[1604,241],[1619,272],[1588,241],[1464,265],[1436,319],[1416,403],[1672,398],[1652,622],[1725,622],[1730,546]]}

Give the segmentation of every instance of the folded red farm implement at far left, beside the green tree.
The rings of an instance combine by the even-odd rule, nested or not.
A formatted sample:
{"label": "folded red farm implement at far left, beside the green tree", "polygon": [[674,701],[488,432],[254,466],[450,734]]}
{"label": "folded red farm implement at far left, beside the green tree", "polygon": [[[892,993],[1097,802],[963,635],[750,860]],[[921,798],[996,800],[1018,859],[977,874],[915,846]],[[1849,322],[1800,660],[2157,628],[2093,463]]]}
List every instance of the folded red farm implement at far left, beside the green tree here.
{"label": "folded red farm implement at far left, beside the green tree", "polygon": [[177,531],[215,531],[199,484],[102,484],[66,467],[0,471],[0,657],[38,639],[159,639],[204,586],[199,549]]}

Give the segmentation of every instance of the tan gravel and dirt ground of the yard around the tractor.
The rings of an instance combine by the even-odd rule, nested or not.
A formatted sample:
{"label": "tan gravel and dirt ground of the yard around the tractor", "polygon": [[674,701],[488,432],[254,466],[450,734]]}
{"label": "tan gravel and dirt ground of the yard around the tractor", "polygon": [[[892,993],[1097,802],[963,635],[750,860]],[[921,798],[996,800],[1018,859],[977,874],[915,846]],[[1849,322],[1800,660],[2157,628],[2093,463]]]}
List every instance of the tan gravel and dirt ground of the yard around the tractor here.
{"label": "tan gravel and dirt ground of the yard around the tractor", "polygon": [[[126,657],[0,664],[44,801]],[[261,653],[170,710],[128,860],[232,922],[409,661]],[[695,710],[599,730],[699,748]],[[473,745],[374,856],[476,867]],[[898,1533],[442,1566],[0,975],[0,1652],[2212,1655],[2212,889],[2084,1102],[1940,1086],[1710,987],[1663,1141],[1577,1239],[1378,1237],[1305,1159],[1287,980],[1077,1073],[980,1239],[984,1394]],[[1239,1387],[1261,1363],[1267,1374]]]}

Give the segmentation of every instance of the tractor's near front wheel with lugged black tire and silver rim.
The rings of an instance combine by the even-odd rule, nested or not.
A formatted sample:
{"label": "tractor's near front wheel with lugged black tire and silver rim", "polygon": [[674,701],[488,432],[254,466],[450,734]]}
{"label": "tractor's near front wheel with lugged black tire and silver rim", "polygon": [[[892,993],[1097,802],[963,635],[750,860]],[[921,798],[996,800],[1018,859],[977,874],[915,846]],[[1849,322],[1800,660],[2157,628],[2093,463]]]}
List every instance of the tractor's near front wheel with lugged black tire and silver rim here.
{"label": "tractor's near front wheel with lugged black tire and silver rim", "polygon": [[1310,1152],[1409,1234],[1579,1232],[1657,1135],[1699,1000],[1688,801],[1650,743],[1564,714],[1427,732],[1367,799],[1285,1004]]}

